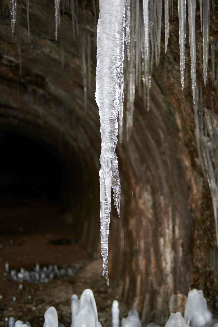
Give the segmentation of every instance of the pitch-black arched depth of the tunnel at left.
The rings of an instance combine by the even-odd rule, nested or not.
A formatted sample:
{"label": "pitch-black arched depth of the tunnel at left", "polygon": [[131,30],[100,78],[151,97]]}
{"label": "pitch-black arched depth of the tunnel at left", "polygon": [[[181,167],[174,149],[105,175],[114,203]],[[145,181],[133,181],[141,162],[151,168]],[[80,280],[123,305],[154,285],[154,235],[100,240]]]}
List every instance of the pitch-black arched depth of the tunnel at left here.
{"label": "pitch-black arched depth of the tunnel at left", "polygon": [[64,202],[67,168],[54,149],[16,132],[0,132],[0,198]]}

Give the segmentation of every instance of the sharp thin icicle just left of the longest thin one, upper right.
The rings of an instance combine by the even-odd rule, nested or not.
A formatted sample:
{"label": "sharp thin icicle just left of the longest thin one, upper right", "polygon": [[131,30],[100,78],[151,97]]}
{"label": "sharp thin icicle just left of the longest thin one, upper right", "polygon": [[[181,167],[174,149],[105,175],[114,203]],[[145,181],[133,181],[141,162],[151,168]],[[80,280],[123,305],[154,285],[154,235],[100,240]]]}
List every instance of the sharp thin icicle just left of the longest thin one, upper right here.
{"label": "sharp thin icicle just left of the longest thin one, upper right", "polygon": [[186,0],[178,0],[179,9],[179,48],[180,48],[180,75],[182,90],[184,89],[185,54],[186,54]]}

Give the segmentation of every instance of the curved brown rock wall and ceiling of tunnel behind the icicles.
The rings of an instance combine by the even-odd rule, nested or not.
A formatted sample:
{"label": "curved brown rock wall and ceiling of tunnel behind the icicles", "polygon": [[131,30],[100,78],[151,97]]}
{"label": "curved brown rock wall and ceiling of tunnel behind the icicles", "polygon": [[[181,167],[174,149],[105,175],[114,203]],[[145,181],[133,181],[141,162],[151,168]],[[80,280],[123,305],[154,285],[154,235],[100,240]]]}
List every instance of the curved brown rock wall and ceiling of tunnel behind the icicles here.
{"label": "curved brown rock wall and ceiling of tunnel behind the icicles", "polygon": [[[63,14],[61,10],[57,42],[53,2],[30,3],[30,43],[26,4],[21,1],[13,39],[9,8],[4,5],[4,16],[1,7],[0,17],[1,136],[8,135],[11,143],[23,145],[26,151],[31,147],[40,169],[49,162],[50,185],[52,176],[54,180],[58,178],[56,170],[59,176],[58,165],[52,166],[52,160],[59,161],[64,180],[56,200],[65,212],[71,213],[69,223],[81,235],[86,250],[92,257],[94,253],[100,257],[101,140],[94,98],[96,25],[92,2],[87,1],[85,6],[79,2],[80,37],[75,41],[70,12]],[[217,26],[214,16],[210,23],[214,42]],[[197,28],[199,31],[199,24]],[[124,129],[124,141],[117,144],[121,217],[112,204],[109,233],[110,283],[130,308],[140,312],[144,322],[160,324],[166,322],[170,312],[184,309],[188,291],[193,287],[202,288],[212,311],[218,310],[216,261],[211,261],[214,256],[218,258],[214,218],[195,141],[188,49],[185,90],[181,90],[176,9],[170,29],[168,52],[164,54],[162,35],[160,65],[154,66],[150,111],[144,108],[143,95],[136,89],[132,135],[127,141]],[[87,110],[81,74],[84,33],[91,38]],[[197,42],[202,42],[201,38],[198,32]],[[200,46],[198,55],[197,78],[199,86],[203,86]],[[210,68],[209,60],[209,71]],[[210,73],[203,101],[210,110],[213,101],[217,115],[217,84],[212,86]],[[44,162],[45,151],[53,153],[56,159],[47,158]],[[26,152],[19,153],[24,156]],[[14,153],[16,158],[19,153]],[[12,155],[10,158],[15,165],[19,164]],[[33,168],[37,169],[37,163]],[[10,169],[13,171],[12,166]],[[32,171],[30,175],[34,176]]]}

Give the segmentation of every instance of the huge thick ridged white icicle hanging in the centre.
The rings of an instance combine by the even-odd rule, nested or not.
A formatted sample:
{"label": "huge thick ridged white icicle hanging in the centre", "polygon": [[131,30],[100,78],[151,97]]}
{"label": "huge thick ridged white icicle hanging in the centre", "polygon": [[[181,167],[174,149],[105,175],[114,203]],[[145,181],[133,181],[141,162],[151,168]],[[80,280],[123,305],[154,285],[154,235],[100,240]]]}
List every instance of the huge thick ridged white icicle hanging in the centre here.
{"label": "huge thick ridged white icicle hanging in the centre", "polygon": [[101,123],[101,254],[103,276],[108,280],[108,234],[111,186],[120,215],[120,179],[115,147],[117,117],[123,109],[124,10],[125,0],[100,0],[97,26],[96,102]]}

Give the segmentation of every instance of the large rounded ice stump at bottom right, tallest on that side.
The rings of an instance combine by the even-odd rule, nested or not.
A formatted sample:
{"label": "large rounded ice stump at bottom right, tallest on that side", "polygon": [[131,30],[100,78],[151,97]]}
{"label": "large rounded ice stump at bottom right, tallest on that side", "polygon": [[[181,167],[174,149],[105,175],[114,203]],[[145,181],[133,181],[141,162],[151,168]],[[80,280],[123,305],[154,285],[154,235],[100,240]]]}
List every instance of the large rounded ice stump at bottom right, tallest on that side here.
{"label": "large rounded ice stump at bottom right, tallest on that side", "polygon": [[192,327],[203,327],[212,319],[212,314],[208,310],[207,301],[202,290],[192,289],[188,293],[185,319],[188,324],[191,323]]}

